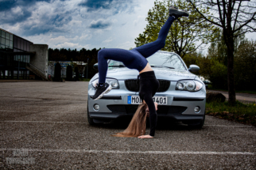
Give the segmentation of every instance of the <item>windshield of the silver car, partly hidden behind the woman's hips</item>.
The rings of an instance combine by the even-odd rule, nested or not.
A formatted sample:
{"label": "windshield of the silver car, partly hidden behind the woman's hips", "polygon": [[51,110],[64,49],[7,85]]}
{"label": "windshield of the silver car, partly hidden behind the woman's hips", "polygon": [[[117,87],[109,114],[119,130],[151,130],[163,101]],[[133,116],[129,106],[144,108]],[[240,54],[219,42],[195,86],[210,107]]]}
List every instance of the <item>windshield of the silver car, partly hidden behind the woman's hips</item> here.
{"label": "windshield of the silver car, partly hidden behind the woman's hips", "polygon": [[[186,70],[180,57],[173,53],[156,52],[147,58],[150,66],[152,67],[163,67],[176,70]],[[108,67],[125,67],[122,62],[110,60]]]}

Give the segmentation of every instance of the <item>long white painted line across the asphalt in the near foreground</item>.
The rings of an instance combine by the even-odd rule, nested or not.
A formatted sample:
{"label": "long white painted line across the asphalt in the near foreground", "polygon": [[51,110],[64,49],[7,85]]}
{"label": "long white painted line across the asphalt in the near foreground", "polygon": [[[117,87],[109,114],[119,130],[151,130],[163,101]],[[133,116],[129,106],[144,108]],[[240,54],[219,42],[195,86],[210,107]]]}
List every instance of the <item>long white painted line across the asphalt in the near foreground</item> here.
{"label": "long white painted line across the asphalt in the near foreground", "polygon": [[48,153],[117,153],[117,154],[192,154],[192,155],[256,155],[250,152],[194,152],[194,151],[122,151],[122,150],[86,150],[86,149],[12,149],[1,148],[0,151],[26,151]]}

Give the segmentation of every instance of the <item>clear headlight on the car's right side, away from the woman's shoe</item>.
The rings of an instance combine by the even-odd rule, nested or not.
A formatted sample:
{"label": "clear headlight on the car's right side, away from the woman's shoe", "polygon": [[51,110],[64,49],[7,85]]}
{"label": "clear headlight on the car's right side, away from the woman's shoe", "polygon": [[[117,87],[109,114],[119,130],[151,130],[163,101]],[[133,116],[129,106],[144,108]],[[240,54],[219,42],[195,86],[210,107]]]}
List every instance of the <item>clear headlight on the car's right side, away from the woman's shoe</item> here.
{"label": "clear headlight on the car's right side, away from the woman's shoe", "polygon": [[203,84],[200,81],[178,81],[176,83],[176,90],[185,90],[189,92],[196,92],[202,89]]}

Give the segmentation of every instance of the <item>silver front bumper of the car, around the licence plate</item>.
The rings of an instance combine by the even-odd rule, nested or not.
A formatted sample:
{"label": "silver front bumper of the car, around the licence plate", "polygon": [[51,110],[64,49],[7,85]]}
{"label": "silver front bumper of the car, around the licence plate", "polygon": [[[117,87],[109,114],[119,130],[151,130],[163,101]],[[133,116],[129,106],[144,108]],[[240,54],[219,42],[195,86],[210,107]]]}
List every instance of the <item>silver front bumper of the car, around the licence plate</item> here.
{"label": "silver front bumper of the car, around the licence plate", "polygon": [[[118,81],[120,89],[112,89],[99,100],[92,100],[95,89],[88,87],[88,111],[94,119],[118,119],[120,117],[131,117],[134,115],[138,104],[128,104],[128,96],[138,96],[138,93],[126,89],[124,81]],[[187,91],[175,90],[176,81],[171,81],[169,89],[165,93],[156,93],[155,96],[167,96],[166,105],[158,105],[157,116],[168,117],[178,121],[202,120],[204,119],[206,92],[205,88],[199,92],[190,93]],[[99,111],[93,106],[99,104]],[[196,113],[195,107],[200,107]]]}

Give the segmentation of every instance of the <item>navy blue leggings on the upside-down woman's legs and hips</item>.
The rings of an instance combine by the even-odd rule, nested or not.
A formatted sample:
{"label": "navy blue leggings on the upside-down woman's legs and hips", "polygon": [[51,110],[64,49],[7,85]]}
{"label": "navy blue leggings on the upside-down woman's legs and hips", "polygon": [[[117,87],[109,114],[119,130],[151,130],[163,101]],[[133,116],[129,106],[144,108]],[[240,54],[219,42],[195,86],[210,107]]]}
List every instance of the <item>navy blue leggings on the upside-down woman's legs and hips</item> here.
{"label": "navy blue leggings on the upside-down woman's legs and hips", "polygon": [[122,62],[128,68],[136,69],[141,72],[148,63],[146,58],[165,47],[165,39],[174,20],[173,17],[169,17],[165,22],[165,25],[161,28],[157,40],[151,43],[145,43],[132,50],[116,48],[101,49],[98,53],[99,83],[104,83],[106,81],[108,59]]}

